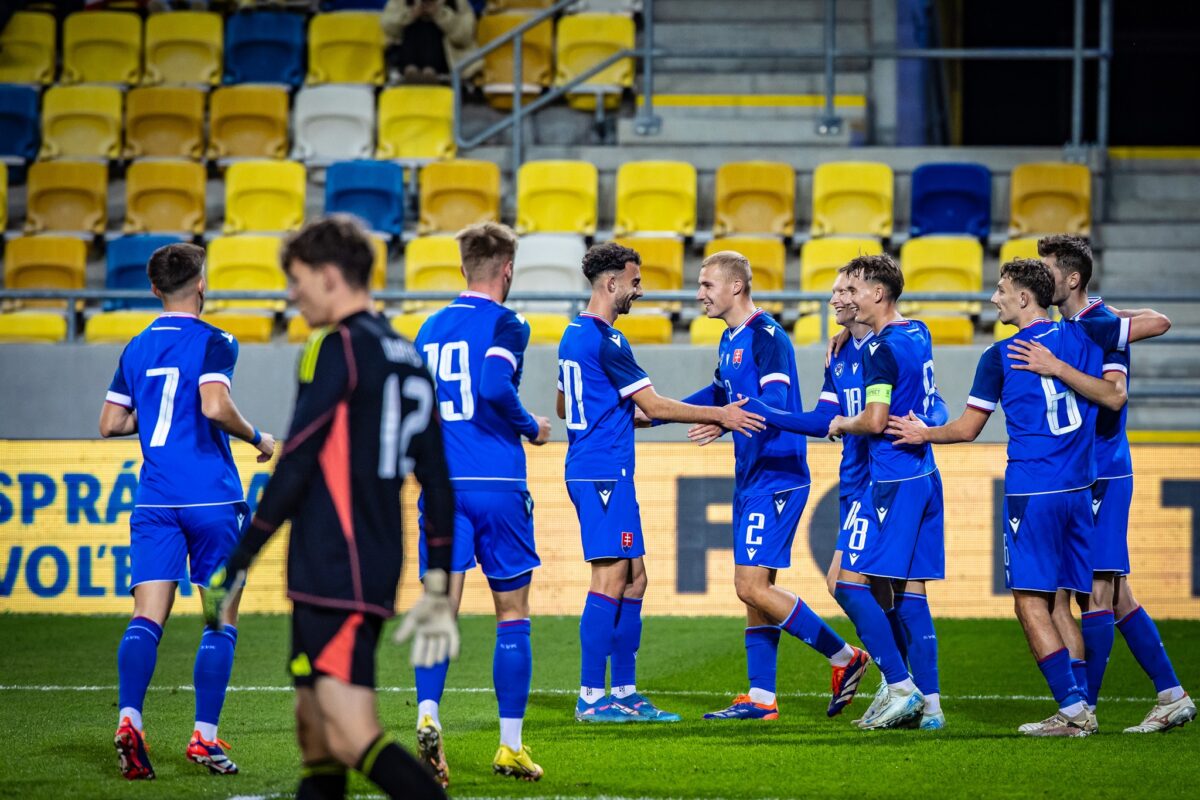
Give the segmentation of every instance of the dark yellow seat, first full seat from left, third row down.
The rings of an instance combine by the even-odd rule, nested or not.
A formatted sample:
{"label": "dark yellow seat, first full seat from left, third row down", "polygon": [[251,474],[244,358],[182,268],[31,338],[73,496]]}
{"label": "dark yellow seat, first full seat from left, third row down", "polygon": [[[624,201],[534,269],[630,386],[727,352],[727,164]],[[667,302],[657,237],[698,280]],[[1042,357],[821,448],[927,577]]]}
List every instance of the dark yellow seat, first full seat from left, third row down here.
{"label": "dark yellow seat, first full seat from left, third row down", "polygon": [[25,233],[104,233],[108,224],[108,167],[86,161],[31,164],[28,197]]}

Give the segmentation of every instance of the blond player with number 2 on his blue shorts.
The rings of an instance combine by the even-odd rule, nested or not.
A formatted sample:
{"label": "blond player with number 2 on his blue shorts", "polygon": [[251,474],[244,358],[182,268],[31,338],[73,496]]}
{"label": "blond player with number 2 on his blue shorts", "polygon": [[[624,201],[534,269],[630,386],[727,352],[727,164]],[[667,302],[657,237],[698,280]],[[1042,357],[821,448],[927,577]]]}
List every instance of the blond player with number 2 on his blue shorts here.
{"label": "blond player with number 2 on his blue shorts", "polygon": [[[803,409],[796,350],[787,331],[754,303],[750,261],[733,251],[713,253],[700,265],[696,300],[710,319],[727,325],[708,386],[685,403],[716,405],[754,397],[770,409]],[[689,438],[708,444],[722,431],[695,426]],[[833,698],[827,714],[850,704],[871,663],[870,656],[838,636],[798,596],[775,585],[779,570],[792,564],[792,540],[809,499],[809,467],[803,435],[768,429],[734,439],[733,585],[746,607],[746,674],[750,690],[706,720],[775,720],[776,654],[780,631],[829,660]]]}

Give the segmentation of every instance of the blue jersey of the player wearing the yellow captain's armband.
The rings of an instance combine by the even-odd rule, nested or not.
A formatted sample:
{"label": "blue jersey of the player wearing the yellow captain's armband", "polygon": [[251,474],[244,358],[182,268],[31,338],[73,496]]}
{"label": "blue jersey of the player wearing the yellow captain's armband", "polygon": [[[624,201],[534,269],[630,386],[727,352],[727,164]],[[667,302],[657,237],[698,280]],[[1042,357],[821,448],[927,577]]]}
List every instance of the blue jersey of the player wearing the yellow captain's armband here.
{"label": "blue jersey of the player wearing the yellow captain's armband", "polygon": [[[890,414],[925,414],[937,393],[934,378],[934,344],[925,324],[916,319],[888,323],[862,350],[864,399],[890,404]],[[865,407],[864,407],[865,408]],[[871,479],[904,481],[937,469],[931,445],[896,447],[886,434],[866,437],[871,455]]]}

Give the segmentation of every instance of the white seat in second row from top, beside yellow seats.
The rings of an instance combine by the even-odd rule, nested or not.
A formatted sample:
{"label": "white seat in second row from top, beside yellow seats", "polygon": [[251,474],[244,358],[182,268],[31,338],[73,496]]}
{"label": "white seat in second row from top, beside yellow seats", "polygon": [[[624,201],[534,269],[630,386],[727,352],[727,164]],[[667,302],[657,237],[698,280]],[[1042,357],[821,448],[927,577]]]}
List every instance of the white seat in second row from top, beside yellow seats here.
{"label": "white seat in second row from top, beside yellow seats", "polygon": [[323,163],[370,158],[374,128],[370,86],[306,86],[296,92],[292,157]]}

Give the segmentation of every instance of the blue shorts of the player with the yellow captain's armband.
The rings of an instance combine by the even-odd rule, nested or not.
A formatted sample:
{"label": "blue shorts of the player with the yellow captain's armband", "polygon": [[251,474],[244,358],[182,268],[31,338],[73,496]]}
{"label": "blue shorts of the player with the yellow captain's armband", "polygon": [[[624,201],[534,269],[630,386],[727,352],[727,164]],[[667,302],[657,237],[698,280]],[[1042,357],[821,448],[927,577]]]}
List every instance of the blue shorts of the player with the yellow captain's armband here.
{"label": "blue shorts of the player with the yellow captain's armband", "polygon": [[900,581],[946,577],[942,476],[936,470],[907,481],[872,482],[862,512],[870,517],[863,553],[857,566],[846,569]]}

